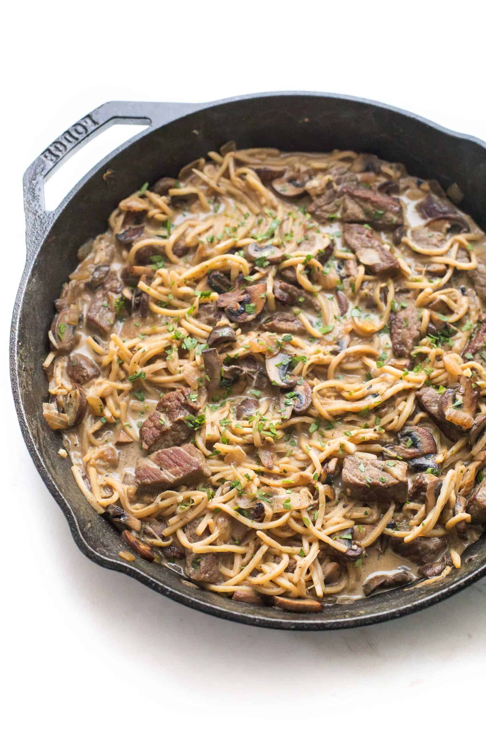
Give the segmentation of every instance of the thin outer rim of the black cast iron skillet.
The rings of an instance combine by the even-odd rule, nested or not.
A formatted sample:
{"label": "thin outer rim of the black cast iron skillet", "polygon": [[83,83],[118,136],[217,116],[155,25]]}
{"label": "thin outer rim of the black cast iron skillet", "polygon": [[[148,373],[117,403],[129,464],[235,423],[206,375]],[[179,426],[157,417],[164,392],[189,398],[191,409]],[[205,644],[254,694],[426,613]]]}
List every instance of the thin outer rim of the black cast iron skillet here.
{"label": "thin outer rim of the black cast iron skillet", "polygon": [[[458,593],[460,590],[463,590],[467,586],[473,584],[477,580],[479,580],[481,577],[486,575],[486,561],[484,564],[478,564],[477,566],[474,566],[471,573],[464,575],[463,577],[458,577],[454,582],[447,583],[442,587],[434,590],[433,593],[430,593],[425,596],[419,596],[418,599],[414,599],[413,593],[410,593],[410,600],[407,604],[401,606],[401,607],[394,607],[394,608],[384,608],[380,609],[377,612],[372,613],[371,615],[356,615],[353,617],[342,617],[342,618],[326,618],[325,612],[319,614],[320,617],[315,618],[299,618],[299,617],[286,617],[286,619],[283,619],[283,617],[279,617],[281,615],[280,611],[277,611],[275,608],[267,608],[268,615],[261,616],[261,615],[251,615],[250,613],[246,612],[240,612],[243,608],[241,604],[233,603],[232,601],[228,602],[228,607],[219,607],[215,604],[210,604],[208,602],[203,601],[202,599],[198,599],[197,593],[195,590],[195,595],[189,595],[186,593],[183,593],[175,588],[172,588],[171,585],[163,584],[161,580],[163,580],[163,573],[161,572],[161,580],[154,580],[152,577],[149,576],[149,574],[146,574],[141,569],[138,569],[137,566],[135,566],[133,563],[128,563],[125,561],[117,561],[116,559],[112,559],[109,557],[106,557],[106,555],[101,554],[101,552],[97,551],[95,547],[92,547],[89,542],[87,542],[87,539],[82,534],[82,530],[79,526],[79,521],[77,518],[76,513],[74,512],[73,508],[70,504],[66,501],[63,494],[60,492],[60,488],[55,483],[55,480],[53,480],[50,477],[50,473],[47,471],[47,468],[44,464],[44,460],[42,459],[41,454],[39,453],[36,443],[34,442],[34,437],[31,434],[31,431],[28,426],[28,420],[27,416],[23,407],[23,401],[21,397],[21,391],[22,388],[20,386],[20,377],[19,377],[19,365],[17,362],[17,347],[18,347],[18,335],[19,335],[19,319],[20,319],[20,311],[23,305],[23,298],[26,292],[26,288],[28,285],[29,276],[31,274],[31,270],[34,266],[34,263],[36,262],[37,257],[39,256],[40,252],[42,251],[42,247],[45,241],[45,237],[47,237],[47,233],[50,230],[50,227],[54,224],[55,220],[58,218],[60,213],[68,206],[68,204],[71,201],[71,198],[76,194],[76,192],[87,182],[88,179],[90,179],[103,165],[106,165],[109,160],[111,160],[113,157],[119,154],[124,149],[128,149],[132,144],[136,144],[138,139],[141,139],[142,136],[145,136],[146,134],[151,133],[152,131],[161,128],[164,125],[167,125],[173,121],[179,120],[183,117],[188,116],[189,114],[195,113],[195,112],[203,112],[205,109],[210,109],[214,106],[223,106],[226,104],[236,104],[239,101],[246,101],[250,99],[255,98],[275,98],[275,97],[288,97],[288,96],[301,96],[305,98],[327,98],[327,99],[336,99],[339,101],[350,101],[352,103],[356,104],[366,104],[372,107],[376,107],[378,109],[385,109],[387,111],[393,112],[395,114],[399,114],[401,117],[405,117],[407,119],[412,119],[418,122],[421,122],[423,125],[426,125],[430,128],[435,129],[439,133],[444,134],[445,136],[448,136],[452,139],[460,139],[464,141],[469,141],[470,143],[477,145],[481,147],[482,149],[486,150],[486,143],[482,141],[481,139],[478,139],[477,137],[455,132],[453,130],[450,130],[448,128],[443,127],[442,125],[437,124],[436,122],[431,122],[430,120],[427,120],[424,117],[419,116],[418,114],[413,114],[412,112],[404,111],[403,109],[399,109],[395,106],[389,106],[388,104],[381,104],[377,101],[370,101],[368,99],[364,98],[358,98],[353,97],[349,95],[341,95],[341,94],[335,94],[335,93],[321,93],[321,92],[307,92],[307,91],[276,91],[276,92],[264,92],[264,93],[255,93],[255,94],[247,94],[247,95],[239,95],[235,97],[230,98],[223,98],[218,101],[211,101],[206,104],[165,104],[165,102],[144,102],[141,104],[136,103],[130,103],[130,102],[108,102],[107,104],[103,104],[103,106],[98,107],[98,109],[95,109],[94,112],[91,112],[92,114],[95,114],[95,112],[110,112],[114,109],[131,109],[134,107],[134,109],[138,109],[140,112],[137,114],[138,118],[144,118],[144,110],[146,112],[150,112],[154,109],[159,109],[160,112],[163,112],[164,109],[168,111],[168,119],[162,118],[162,122],[160,122],[160,119],[157,120],[157,114],[154,114],[155,122],[154,125],[149,126],[147,130],[144,130],[144,132],[136,135],[132,139],[129,139],[124,144],[117,147],[117,149],[114,149],[112,152],[110,152],[109,155],[106,155],[103,160],[101,160],[97,165],[95,165],[85,176],[82,177],[82,179],[77,182],[77,184],[72,188],[70,192],[68,192],[68,195],[66,195],[66,198],[60,203],[58,208],[52,212],[52,214],[49,214],[49,217],[47,218],[47,232],[46,230],[42,230],[42,241],[37,246],[34,246],[34,248],[31,248],[29,244],[27,243],[27,260],[26,260],[26,267],[23,271],[23,276],[20,281],[20,286],[17,291],[17,295],[15,298],[15,305],[14,305],[14,311],[12,315],[12,327],[10,331],[10,347],[9,347],[9,359],[10,359],[10,378],[12,383],[12,394],[15,401],[15,409],[17,411],[17,417],[20,424],[20,429],[23,434],[23,439],[26,442],[28,451],[31,455],[31,458],[34,461],[34,464],[36,466],[37,471],[39,472],[39,475],[42,477],[42,480],[44,481],[45,485],[47,486],[47,489],[50,491],[52,496],[55,498],[55,501],[59,504],[61,510],[63,511],[63,514],[66,516],[66,520],[68,521],[69,528],[71,529],[71,534],[74,538],[74,542],[76,542],[79,549],[84,553],[88,558],[90,558],[91,561],[94,561],[96,564],[99,564],[103,567],[106,567],[106,569],[112,569],[116,572],[121,572],[123,574],[128,574],[130,577],[134,577],[138,582],[141,582],[142,584],[146,585],[147,587],[151,588],[152,590],[167,596],[171,599],[173,599],[176,602],[179,602],[181,604],[186,605],[187,607],[192,607],[194,609],[200,610],[201,612],[205,612],[208,615],[214,615],[215,617],[222,617],[226,620],[231,620],[236,623],[243,623],[246,625],[256,625],[257,627],[265,627],[265,628],[275,628],[275,629],[283,629],[283,630],[299,630],[299,631],[321,631],[321,630],[335,630],[335,629],[343,629],[343,628],[356,628],[364,625],[373,625],[375,623],[382,623],[388,620],[393,620],[398,617],[404,616],[404,615],[410,615],[413,612],[418,612],[421,609],[425,609],[426,607],[430,607],[433,604],[438,603],[439,601],[442,601],[446,599],[447,597],[450,597],[454,595],[455,593]],[[133,109],[132,109],[133,110]],[[111,114],[111,116],[116,116],[119,118],[123,117],[123,114]],[[151,114],[147,113],[145,114],[145,117],[150,117]],[[109,117],[106,117],[107,119]],[[130,118],[134,118],[133,114],[130,115]],[[101,126],[103,127],[104,122],[101,123]],[[104,127],[103,127],[104,128]],[[75,151],[73,149],[72,151]],[[66,155],[67,156],[67,155]],[[26,171],[26,174],[24,176],[24,191],[26,195],[26,215],[28,213],[27,210],[27,203],[28,203],[28,196],[34,195],[35,193],[33,190],[29,188],[29,183],[33,182],[34,176],[37,174],[39,175],[38,171],[38,164],[39,164],[40,157],[37,158],[37,160],[30,165],[28,170]],[[55,165],[54,165],[55,166]],[[38,202],[43,203],[43,200],[39,200]],[[27,215],[28,217],[28,215]],[[29,222],[29,221],[27,221]],[[27,230],[28,233],[28,230]],[[201,594],[205,594],[201,590]],[[368,603],[369,604],[369,603]],[[343,606],[344,607],[344,606]],[[288,614],[287,614],[288,615]]]}

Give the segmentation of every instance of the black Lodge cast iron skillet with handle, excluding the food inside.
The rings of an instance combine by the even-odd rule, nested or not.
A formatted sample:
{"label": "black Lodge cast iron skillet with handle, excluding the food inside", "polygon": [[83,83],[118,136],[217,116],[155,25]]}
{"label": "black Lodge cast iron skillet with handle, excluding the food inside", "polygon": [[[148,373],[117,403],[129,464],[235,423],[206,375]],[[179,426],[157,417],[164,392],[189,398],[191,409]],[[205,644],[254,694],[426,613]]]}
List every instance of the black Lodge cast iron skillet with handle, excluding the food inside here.
{"label": "black Lodge cast iron skillet with handle, excluding the food inside", "polygon": [[[44,179],[90,136],[108,125],[149,122],[149,128],[108,155],[52,212],[44,208]],[[42,418],[46,380],[42,360],[53,300],[77,265],[78,246],[106,229],[122,198],[144,182],[179,168],[235,139],[239,148],[375,152],[405,163],[410,174],[457,182],[463,208],[486,228],[486,144],[413,114],[362,99],[318,93],[269,93],[211,104],[103,104],[63,133],[24,176],[27,262],[15,300],[10,338],[12,390],[20,428],[44,483],[66,515],[79,548],[93,561],[135,577],[190,607],[239,623],[287,630],[350,628],[390,620],[432,605],[486,574],[486,539],[469,549],[469,561],[434,585],[392,590],[318,615],[234,603],[200,590],[171,569],[137,557],[126,562],[119,534],[90,507],[60,459],[58,434]],[[103,179],[107,169],[112,174]],[[143,599],[143,597],[141,597]]]}

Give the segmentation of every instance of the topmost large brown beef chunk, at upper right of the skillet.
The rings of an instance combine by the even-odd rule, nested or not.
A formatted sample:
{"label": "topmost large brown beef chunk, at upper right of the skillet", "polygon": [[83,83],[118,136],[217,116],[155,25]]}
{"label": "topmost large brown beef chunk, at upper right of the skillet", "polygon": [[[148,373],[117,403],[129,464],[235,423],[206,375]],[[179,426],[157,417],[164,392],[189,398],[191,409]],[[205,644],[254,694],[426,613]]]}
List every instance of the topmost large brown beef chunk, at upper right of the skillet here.
{"label": "topmost large brown beef chunk, at upper right of the skillet", "polygon": [[393,227],[403,225],[403,211],[397,198],[366,187],[344,187],[342,192],[341,217],[345,222]]}

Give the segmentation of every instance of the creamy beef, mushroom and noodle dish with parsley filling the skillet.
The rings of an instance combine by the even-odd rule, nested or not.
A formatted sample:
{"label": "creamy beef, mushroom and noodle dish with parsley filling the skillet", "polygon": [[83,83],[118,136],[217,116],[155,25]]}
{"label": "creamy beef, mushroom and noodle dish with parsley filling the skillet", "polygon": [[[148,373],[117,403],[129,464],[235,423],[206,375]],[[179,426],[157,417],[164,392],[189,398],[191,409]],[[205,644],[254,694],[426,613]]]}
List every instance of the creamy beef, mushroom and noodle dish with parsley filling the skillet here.
{"label": "creamy beef, mushroom and noodle dish with parsley filling the skillet", "polygon": [[297,612],[460,569],[486,524],[460,197],[229,143],[119,203],[55,301],[43,412],[123,558]]}

